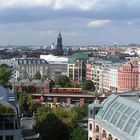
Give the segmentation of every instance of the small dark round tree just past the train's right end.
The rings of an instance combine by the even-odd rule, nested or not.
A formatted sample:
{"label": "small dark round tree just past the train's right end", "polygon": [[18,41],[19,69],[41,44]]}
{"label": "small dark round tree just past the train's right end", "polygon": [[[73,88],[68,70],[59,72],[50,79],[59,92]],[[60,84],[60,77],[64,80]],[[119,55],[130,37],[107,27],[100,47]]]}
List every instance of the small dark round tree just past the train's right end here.
{"label": "small dark round tree just past the train's right end", "polygon": [[83,90],[95,90],[95,86],[91,80],[85,80],[83,83]]}

